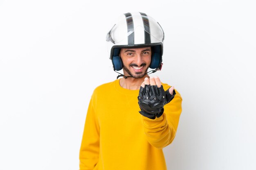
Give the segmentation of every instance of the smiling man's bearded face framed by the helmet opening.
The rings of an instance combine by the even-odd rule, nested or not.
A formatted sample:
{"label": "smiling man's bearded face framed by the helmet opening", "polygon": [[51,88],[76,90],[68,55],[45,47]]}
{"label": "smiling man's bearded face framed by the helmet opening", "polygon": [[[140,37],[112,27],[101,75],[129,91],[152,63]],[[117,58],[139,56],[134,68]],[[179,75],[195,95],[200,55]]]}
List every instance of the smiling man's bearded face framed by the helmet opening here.
{"label": "smiling man's bearded face framed by the helmet opening", "polygon": [[142,78],[150,65],[151,47],[121,48],[120,57],[124,64],[124,75]]}

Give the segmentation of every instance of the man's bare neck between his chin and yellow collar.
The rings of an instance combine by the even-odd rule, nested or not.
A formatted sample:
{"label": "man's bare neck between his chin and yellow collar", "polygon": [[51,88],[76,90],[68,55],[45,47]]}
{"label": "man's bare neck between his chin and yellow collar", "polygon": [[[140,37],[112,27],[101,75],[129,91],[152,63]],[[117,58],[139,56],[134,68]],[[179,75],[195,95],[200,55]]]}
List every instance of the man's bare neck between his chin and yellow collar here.
{"label": "man's bare neck between his chin and yellow collar", "polygon": [[120,79],[120,86],[129,89],[129,90],[138,90],[141,86],[141,83],[144,82],[144,78],[149,76],[144,75],[142,78],[133,78],[133,77],[128,77],[128,78],[121,78]]}

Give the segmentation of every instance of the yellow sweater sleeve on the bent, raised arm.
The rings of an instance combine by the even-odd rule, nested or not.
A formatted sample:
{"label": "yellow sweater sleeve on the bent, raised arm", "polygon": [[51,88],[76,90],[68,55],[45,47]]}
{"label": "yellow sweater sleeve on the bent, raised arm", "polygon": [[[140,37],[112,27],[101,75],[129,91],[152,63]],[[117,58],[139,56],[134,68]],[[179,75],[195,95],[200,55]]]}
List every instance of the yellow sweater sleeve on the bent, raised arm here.
{"label": "yellow sweater sleeve on the bent, raised arm", "polygon": [[149,119],[142,116],[144,132],[148,142],[156,148],[164,148],[173,142],[182,112],[182,97],[175,89],[176,95],[164,106],[164,113],[159,118]]}

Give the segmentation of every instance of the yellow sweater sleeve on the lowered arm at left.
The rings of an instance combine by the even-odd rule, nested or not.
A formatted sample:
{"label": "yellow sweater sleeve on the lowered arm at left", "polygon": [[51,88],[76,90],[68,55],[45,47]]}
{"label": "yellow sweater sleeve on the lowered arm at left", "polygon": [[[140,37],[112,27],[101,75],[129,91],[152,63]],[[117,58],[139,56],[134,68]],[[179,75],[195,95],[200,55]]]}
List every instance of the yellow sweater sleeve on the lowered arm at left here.
{"label": "yellow sweater sleeve on the lowered arm at left", "polygon": [[93,170],[99,161],[99,122],[95,116],[93,97],[86,115],[79,160],[80,170]]}

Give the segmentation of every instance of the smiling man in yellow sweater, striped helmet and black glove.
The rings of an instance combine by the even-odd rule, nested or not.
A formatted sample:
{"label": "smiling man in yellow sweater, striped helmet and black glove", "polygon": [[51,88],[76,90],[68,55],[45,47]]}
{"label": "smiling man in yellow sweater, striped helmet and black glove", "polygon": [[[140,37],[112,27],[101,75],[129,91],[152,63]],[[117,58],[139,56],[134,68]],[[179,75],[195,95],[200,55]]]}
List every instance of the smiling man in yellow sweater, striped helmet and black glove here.
{"label": "smiling man in yellow sweater, striped helmet and black glove", "polygon": [[161,26],[145,13],[126,13],[109,31],[110,59],[124,78],[92,94],[80,170],[166,170],[162,148],[175,137],[182,98],[148,76],[148,68],[162,67],[163,40]]}

